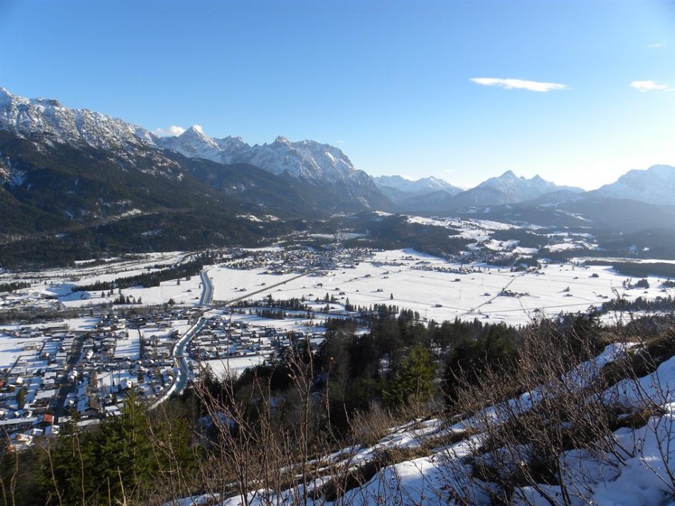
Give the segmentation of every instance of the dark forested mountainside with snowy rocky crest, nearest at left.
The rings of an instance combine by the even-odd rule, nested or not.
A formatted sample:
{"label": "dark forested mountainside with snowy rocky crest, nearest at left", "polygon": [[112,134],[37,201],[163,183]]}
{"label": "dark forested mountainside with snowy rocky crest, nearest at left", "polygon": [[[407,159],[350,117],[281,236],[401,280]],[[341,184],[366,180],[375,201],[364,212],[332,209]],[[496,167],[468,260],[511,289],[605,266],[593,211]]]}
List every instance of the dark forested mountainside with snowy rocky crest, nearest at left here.
{"label": "dark forested mountainside with snowy rocky crest, nearest at left", "polygon": [[205,168],[158,147],[156,138],[111,116],[51,99],[24,99],[0,88],[0,185],[5,200],[18,198],[28,214],[40,208],[58,223],[84,222],[157,204],[194,206],[197,198],[185,195],[213,203],[214,212],[242,210],[244,202],[282,208],[284,214],[310,207],[274,174],[225,164]]}

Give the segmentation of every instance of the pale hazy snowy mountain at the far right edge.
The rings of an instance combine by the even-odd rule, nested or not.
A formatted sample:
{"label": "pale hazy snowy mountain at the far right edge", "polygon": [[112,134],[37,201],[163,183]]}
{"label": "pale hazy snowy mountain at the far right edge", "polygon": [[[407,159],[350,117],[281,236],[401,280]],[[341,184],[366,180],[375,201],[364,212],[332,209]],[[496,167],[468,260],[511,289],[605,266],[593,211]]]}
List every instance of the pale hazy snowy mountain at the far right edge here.
{"label": "pale hazy snowy mountain at the far right edge", "polygon": [[612,184],[590,192],[596,197],[630,198],[636,201],[675,205],[675,167],[654,165],[647,170],[631,170]]}

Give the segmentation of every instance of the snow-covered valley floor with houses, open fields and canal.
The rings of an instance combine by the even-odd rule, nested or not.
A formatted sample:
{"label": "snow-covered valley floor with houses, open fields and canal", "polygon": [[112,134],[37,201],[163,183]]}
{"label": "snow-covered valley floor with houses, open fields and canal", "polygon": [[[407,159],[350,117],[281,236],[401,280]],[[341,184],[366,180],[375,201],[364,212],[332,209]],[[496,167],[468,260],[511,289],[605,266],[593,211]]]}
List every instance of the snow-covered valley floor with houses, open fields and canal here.
{"label": "snow-covered valley floor with houses, open fields and canal", "polygon": [[[226,249],[193,275],[150,288],[79,287],[162,271],[193,254],[0,274],[0,283],[23,287],[0,293],[0,427],[21,449],[67,420],[87,426],[115,416],[131,391],[160,405],[199,373],[240,374],[273,359],[291,339],[316,349],[326,322],[355,317],[356,308],[391,304],[423,322],[518,325],[587,310],[618,291],[629,299],[666,291],[661,279],[633,286],[610,268],[581,262],[498,266],[490,261],[518,254],[517,247],[490,247],[489,230],[466,228],[483,247],[456,259],[338,242],[325,249]],[[563,244],[574,245],[570,238]]]}

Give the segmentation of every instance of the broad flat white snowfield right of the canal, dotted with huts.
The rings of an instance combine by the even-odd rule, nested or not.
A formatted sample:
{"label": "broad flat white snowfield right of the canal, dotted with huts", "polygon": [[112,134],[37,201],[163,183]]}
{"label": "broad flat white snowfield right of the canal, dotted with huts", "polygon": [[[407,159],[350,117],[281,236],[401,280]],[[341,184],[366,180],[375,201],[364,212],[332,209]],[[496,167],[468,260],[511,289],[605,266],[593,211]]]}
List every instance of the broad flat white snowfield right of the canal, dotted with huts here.
{"label": "broad flat white snowfield right of the canal, dotted with huts", "polygon": [[427,320],[479,317],[511,325],[528,323],[537,315],[584,312],[618,295],[633,300],[638,296],[675,294],[673,288],[664,293],[657,277],[647,278],[647,290],[625,289],[626,276],[607,266],[550,264],[535,272],[511,273],[504,268],[474,265],[470,266],[475,269],[472,272],[459,271],[467,267],[404,249],[379,252],[355,269],[304,276],[269,291],[265,289],[269,284],[293,276],[262,274],[264,269],[238,271],[221,267],[211,269],[210,275],[217,300],[245,296],[241,288],[260,291],[252,296],[254,300],[269,295],[275,299],[323,300],[328,293],[340,303],[349,298],[352,305],[398,305],[418,311]]}

